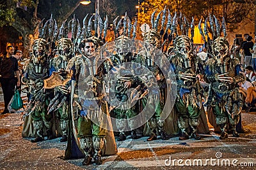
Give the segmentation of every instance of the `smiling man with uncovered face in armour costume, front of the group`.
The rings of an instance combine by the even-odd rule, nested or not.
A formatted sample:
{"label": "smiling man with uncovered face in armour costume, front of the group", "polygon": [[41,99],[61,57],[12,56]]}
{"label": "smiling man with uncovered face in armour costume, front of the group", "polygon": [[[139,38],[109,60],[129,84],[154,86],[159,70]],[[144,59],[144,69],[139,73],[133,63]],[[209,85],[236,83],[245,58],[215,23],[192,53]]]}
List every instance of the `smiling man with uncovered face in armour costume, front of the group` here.
{"label": "smiling man with uncovered face in armour costume, front of the group", "polygon": [[[74,63],[72,80],[76,81],[76,89],[79,88],[83,94],[76,94],[77,90],[75,90],[72,103],[73,113],[78,113],[76,116],[78,117],[77,138],[84,152],[83,166],[92,164],[92,158],[95,164],[102,164],[102,148],[107,135],[107,120],[102,120],[104,114],[108,114],[103,78],[111,64],[108,60],[100,62],[100,59],[96,57],[95,50],[99,45],[100,40],[95,36],[83,39],[79,45],[83,54],[70,60]],[[79,96],[79,99],[75,96]]]}

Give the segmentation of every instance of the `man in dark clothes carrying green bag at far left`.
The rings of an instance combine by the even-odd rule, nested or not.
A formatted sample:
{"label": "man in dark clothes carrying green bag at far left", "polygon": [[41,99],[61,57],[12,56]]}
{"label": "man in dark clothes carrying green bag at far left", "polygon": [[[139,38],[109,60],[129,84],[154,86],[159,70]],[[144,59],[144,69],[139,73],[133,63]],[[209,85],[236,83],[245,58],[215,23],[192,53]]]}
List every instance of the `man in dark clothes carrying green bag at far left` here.
{"label": "man in dark clothes carrying green bag at far left", "polygon": [[[17,86],[20,86],[18,61],[13,57],[13,52],[13,46],[7,46],[7,54],[0,59],[0,82],[4,95],[4,111],[1,115],[10,113],[8,110],[8,104],[14,95],[15,85],[17,83]],[[17,81],[15,79],[15,73],[17,75]]]}

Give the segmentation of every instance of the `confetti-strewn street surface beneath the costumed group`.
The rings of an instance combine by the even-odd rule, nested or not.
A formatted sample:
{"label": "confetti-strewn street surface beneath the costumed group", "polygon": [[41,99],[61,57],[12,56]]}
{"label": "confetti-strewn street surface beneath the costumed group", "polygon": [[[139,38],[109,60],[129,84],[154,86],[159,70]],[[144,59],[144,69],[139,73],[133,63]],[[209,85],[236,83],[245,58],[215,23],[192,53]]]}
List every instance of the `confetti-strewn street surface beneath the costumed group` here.
{"label": "confetti-strewn street surface beneath the costumed group", "polygon": [[[25,99],[25,94],[22,96]],[[241,138],[230,134],[220,140],[219,134],[211,132],[200,141],[127,139],[116,142],[118,154],[102,157],[104,164],[100,166],[82,166],[83,159],[60,159],[67,145],[60,143],[60,138],[40,143],[22,138],[21,118],[22,109],[0,115],[0,169],[256,169],[256,112],[242,114],[243,125],[251,132],[240,134]]]}

